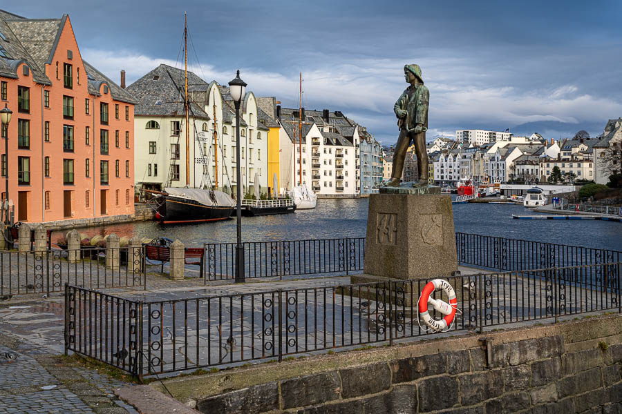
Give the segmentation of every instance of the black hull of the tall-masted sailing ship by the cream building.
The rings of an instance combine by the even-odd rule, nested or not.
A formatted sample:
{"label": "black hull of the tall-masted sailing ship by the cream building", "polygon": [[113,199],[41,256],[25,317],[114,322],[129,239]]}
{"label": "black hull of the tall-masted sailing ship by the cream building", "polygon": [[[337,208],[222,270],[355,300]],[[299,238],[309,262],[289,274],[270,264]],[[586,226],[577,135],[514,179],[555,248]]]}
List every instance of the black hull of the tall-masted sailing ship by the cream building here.
{"label": "black hull of the tall-masted sailing ship by the cream building", "polygon": [[158,208],[160,224],[200,223],[228,219],[234,207],[205,206],[198,201],[181,197],[165,196]]}

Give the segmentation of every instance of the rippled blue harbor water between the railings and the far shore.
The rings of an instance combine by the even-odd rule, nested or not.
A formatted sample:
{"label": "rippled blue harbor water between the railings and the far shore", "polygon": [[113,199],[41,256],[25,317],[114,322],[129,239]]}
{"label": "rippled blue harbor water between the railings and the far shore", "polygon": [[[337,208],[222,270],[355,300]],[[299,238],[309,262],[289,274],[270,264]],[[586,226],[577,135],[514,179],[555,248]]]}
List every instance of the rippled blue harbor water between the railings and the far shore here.
{"label": "rippled blue harbor water between the railings and the far shore", "polygon": [[[294,214],[243,217],[245,242],[295,239],[365,237],[369,199],[321,199],[314,210]],[[455,204],[455,231],[478,235],[524,239],[622,250],[622,223],[594,220],[516,220],[513,214],[531,210],[508,204]],[[160,226],[155,221],[138,221],[106,228],[83,228],[88,235],[115,233],[119,237],[158,236],[180,239],[186,246],[235,242],[236,220],[213,223]],[[56,235],[56,233],[55,233]],[[59,236],[60,233],[57,233]]]}

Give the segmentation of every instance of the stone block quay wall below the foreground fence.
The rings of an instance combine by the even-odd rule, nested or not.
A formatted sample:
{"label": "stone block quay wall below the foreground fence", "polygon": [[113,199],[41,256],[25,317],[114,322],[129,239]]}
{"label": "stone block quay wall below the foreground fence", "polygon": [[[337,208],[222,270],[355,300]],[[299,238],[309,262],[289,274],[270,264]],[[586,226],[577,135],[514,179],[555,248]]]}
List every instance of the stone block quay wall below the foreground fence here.
{"label": "stone block quay wall below the foreground fence", "polygon": [[[296,369],[283,362],[171,380],[167,388],[202,413],[622,413],[622,316],[601,318],[488,333],[488,348],[473,346],[483,339],[475,335],[444,338],[358,358],[311,357],[293,362]],[[417,355],[426,346],[435,353]],[[332,362],[314,369],[324,357]],[[211,395],[196,398],[205,390]]]}

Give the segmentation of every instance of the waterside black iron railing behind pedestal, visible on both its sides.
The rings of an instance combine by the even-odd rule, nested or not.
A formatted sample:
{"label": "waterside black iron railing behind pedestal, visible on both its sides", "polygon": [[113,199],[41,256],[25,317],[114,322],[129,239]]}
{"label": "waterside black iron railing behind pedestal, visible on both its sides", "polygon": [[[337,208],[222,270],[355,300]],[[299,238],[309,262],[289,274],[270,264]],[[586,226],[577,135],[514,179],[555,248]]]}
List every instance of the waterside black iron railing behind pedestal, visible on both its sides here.
{"label": "waterside black iron railing behind pedestal, visible on both its sides", "polygon": [[[622,261],[622,252],[455,233],[458,264],[527,270]],[[235,243],[205,244],[205,281],[234,279]],[[244,243],[246,277],[283,277],[364,270],[365,237]]]}

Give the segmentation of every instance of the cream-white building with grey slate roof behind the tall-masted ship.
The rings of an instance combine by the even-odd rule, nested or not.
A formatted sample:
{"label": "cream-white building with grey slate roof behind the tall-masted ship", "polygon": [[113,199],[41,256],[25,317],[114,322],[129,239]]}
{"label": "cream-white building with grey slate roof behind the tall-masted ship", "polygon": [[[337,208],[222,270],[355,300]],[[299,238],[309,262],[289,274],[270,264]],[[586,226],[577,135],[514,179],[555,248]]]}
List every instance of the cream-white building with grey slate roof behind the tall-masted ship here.
{"label": "cream-white building with grey slate roof behind the tall-masted ship", "polygon": [[[167,65],[138,79],[127,90],[135,106],[135,186],[215,188],[235,193],[235,115],[228,88],[207,83],[188,72],[189,153],[186,153],[184,72]],[[252,193],[258,173],[261,191],[267,188],[267,132],[257,121],[257,103],[247,92],[241,106],[241,161],[244,193]],[[186,174],[186,159],[189,171]],[[188,177],[188,180],[186,179]]]}

